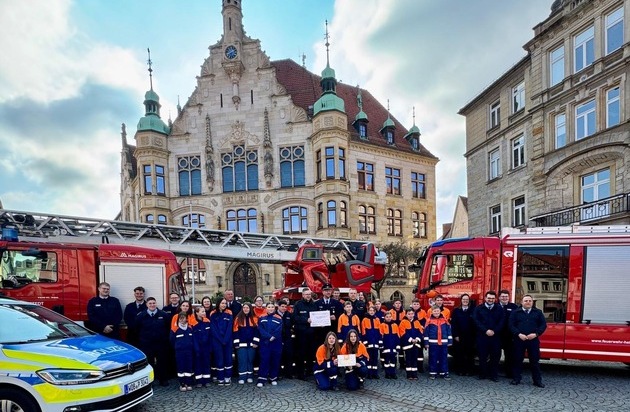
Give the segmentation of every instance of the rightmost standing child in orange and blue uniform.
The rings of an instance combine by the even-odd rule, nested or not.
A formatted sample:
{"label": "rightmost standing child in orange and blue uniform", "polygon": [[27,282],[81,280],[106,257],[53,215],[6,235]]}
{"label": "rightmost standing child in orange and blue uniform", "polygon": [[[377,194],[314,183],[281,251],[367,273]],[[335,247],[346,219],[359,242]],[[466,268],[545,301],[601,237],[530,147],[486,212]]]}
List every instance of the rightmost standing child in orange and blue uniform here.
{"label": "rightmost standing child in orange and blue uniform", "polygon": [[451,379],[448,374],[448,347],[453,344],[451,325],[438,305],[431,307],[431,316],[424,327],[424,346],[429,349],[429,379]]}

